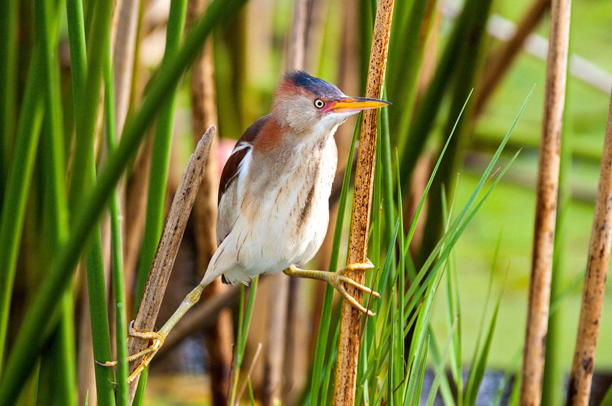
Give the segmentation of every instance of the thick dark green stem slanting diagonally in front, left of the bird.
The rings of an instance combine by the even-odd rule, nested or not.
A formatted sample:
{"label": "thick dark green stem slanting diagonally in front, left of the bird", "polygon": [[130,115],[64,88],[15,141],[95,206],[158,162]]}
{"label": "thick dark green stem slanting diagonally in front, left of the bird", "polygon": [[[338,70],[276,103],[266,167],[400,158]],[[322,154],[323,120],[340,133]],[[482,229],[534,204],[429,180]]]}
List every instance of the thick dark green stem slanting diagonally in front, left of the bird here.
{"label": "thick dark green stem slanting diagonally in front, left of the bird", "polygon": [[84,197],[82,210],[76,214],[73,222],[70,239],[58,250],[53,268],[42,282],[39,292],[32,298],[31,306],[23,318],[16,336],[20,345],[10,353],[6,366],[7,375],[11,378],[0,380],[0,404],[9,403],[17,396],[34,368],[35,360],[48,337],[40,331],[47,331],[43,327],[53,321],[49,320],[48,314],[59,303],[57,292],[68,286],[83,249],[82,242],[91,235],[93,227],[107,207],[113,189],[125,167],[135,156],[147,127],[155,117],[160,101],[171,93],[184,70],[198,56],[212,28],[235,15],[244,2],[245,0],[214,0],[210,4],[204,16],[188,33],[181,51],[174,58],[174,63],[160,70],[140,110],[125,125],[116,152],[109,157],[95,189]]}

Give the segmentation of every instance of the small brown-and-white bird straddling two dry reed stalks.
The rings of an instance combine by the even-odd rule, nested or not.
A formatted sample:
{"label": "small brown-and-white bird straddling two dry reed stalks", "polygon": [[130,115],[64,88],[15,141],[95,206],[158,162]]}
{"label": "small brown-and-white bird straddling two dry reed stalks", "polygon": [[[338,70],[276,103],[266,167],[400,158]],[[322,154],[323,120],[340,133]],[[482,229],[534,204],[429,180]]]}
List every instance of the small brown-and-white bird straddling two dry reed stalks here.
{"label": "small brown-and-white bird straddling two dry reed stalks", "polygon": [[[345,284],[380,297],[347,276],[373,268],[369,260],[337,271],[305,270],[325,237],[329,196],[337,168],[335,132],[349,116],[390,105],[378,98],[350,97],[334,84],[303,70],[282,75],[274,91],[271,113],[256,120],[231,152],[223,168],[217,212],[217,251],[204,278],[158,331],[129,335],[152,340],[129,382],[138,377],[162,347],[166,336],[193,306],[207,284],[221,277],[226,283],[248,282],[257,275],[283,271],[297,278],[319,279],[332,285],[355,308],[365,309],[349,295]],[[114,366],[108,361],[105,366]]]}

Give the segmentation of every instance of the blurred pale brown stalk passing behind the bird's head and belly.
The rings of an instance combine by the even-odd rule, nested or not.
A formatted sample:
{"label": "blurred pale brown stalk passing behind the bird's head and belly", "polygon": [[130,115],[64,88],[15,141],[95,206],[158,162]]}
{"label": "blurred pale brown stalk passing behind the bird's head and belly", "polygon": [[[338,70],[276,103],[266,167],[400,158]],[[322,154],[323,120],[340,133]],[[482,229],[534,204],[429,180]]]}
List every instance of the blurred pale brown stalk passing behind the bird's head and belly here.
{"label": "blurred pale brown stalk passing behind the bird's head and belly", "polygon": [[[308,20],[308,2],[310,0],[296,0],[294,2],[293,25],[287,52],[287,66],[294,69],[304,68],[306,52],[306,28]],[[283,273],[271,276],[274,279],[267,286],[268,313],[266,320],[266,347],[264,351],[263,396],[264,406],[282,403],[283,397],[283,366],[285,364],[285,344],[287,339],[287,317],[289,304],[289,278]],[[298,282],[299,283],[299,282]],[[296,285],[294,290],[299,290]],[[299,297],[299,294],[297,294]],[[295,297],[292,302],[303,306]]]}

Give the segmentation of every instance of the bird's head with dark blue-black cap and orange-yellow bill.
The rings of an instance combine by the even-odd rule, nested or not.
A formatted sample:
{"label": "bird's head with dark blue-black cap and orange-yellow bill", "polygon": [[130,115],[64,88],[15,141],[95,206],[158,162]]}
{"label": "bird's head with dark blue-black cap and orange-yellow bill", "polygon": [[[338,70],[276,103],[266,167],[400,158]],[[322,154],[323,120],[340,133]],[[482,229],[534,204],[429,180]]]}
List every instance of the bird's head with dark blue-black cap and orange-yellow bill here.
{"label": "bird's head with dark blue-black cap and orange-yellow bill", "polygon": [[349,116],[389,104],[378,98],[349,97],[334,84],[294,70],[281,77],[272,112],[280,125],[299,132],[329,134]]}

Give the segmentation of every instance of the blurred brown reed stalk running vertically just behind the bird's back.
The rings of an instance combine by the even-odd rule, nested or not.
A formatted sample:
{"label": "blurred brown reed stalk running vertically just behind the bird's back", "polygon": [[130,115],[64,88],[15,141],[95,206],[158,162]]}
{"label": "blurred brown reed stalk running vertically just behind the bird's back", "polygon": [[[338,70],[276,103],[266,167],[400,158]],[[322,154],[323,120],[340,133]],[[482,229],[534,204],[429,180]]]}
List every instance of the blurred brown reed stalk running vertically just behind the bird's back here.
{"label": "blurred brown reed stalk running vertically just behind the bird's back", "polygon": [[[190,24],[206,8],[206,0],[187,2],[187,21]],[[212,39],[207,39],[201,56],[193,63],[191,71],[190,94],[192,101],[193,136],[198,142],[199,134],[211,125],[217,125],[217,105],[215,104],[215,73],[212,57]],[[193,205],[193,228],[195,231],[196,267],[198,276],[204,277],[208,263],[217,249],[218,166],[217,141],[212,141],[211,153],[204,168],[204,179]],[[225,292],[226,286],[220,278],[204,288],[204,300]],[[212,404],[223,406],[228,403],[230,386],[232,344],[234,341],[233,322],[230,309],[223,309],[214,319],[214,326],[208,328],[206,347],[209,354],[209,374],[211,377]]]}

